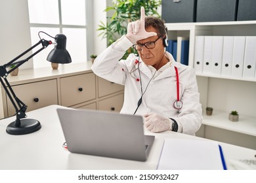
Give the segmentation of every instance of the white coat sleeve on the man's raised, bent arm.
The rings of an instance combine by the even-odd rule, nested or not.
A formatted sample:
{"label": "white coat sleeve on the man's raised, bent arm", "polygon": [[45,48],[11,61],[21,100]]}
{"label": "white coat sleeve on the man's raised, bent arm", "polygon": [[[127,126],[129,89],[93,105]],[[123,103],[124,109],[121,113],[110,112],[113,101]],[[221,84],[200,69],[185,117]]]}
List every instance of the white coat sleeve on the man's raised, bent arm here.
{"label": "white coat sleeve on the man's raised, bent arm", "polygon": [[[132,45],[125,35],[114,42],[97,56],[91,68],[93,73],[111,82],[124,85],[125,72],[122,69],[126,69],[127,66],[125,61],[119,60]],[[129,58],[126,62],[129,62]]]}

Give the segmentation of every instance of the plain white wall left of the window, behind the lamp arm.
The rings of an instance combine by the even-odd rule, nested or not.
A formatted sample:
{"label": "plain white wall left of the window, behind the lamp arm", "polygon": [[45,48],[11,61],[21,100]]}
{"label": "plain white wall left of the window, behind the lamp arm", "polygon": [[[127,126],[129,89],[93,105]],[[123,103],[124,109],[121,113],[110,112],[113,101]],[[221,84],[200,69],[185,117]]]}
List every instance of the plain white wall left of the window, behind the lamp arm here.
{"label": "plain white wall left of the window, behind the lamp arm", "polygon": [[[1,0],[0,7],[0,65],[4,65],[31,47],[30,22],[27,0]],[[30,59],[20,69],[32,67]]]}

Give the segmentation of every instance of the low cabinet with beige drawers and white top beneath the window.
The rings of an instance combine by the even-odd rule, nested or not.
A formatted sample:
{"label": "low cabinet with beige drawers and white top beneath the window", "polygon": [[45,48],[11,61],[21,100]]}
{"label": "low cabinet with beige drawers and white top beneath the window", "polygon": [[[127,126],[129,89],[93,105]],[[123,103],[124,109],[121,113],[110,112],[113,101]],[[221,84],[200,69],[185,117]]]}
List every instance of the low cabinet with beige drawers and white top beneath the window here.
{"label": "low cabinet with beige drawers and white top beneath the window", "polygon": [[[119,111],[123,105],[123,86],[98,78],[91,71],[91,61],[73,65],[20,70],[18,76],[8,76],[16,96],[28,106],[26,112],[48,105]],[[15,114],[15,109],[3,86],[0,90],[3,117]]]}

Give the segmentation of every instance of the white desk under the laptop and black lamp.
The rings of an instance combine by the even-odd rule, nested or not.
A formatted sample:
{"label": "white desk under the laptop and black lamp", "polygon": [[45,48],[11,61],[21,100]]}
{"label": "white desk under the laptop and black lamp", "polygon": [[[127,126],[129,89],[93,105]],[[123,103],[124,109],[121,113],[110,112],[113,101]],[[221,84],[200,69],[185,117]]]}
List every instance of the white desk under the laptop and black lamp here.
{"label": "white desk under the laptop and black lamp", "polygon": [[[28,112],[28,118],[39,120],[42,125],[39,131],[28,135],[5,132],[15,117],[0,120],[0,169],[156,169],[165,137],[202,139],[172,131],[151,133],[145,130],[146,135],[156,136],[146,162],[72,154],[62,147],[65,139],[56,113],[58,107],[51,105]],[[228,169],[234,168],[230,164],[233,159],[255,159],[255,150],[219,144],[223,147]]]}

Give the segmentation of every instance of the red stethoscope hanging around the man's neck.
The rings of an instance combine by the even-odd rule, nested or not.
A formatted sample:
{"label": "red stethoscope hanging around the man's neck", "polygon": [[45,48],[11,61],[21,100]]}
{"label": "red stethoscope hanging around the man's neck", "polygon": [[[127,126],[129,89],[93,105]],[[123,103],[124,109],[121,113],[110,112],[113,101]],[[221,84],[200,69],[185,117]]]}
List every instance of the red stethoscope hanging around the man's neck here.
{"label": "red stethoscope hanging around the man's neck", "polygon": [[[135,74],[134,74],[134,72],[138,69],[138,67],[135,68],[137,63],[139,63],[139,61],[136,59],[131,71],[125,71],[125,69],[122,69],[122,71],[131,75],[131,77],[134,78],[135,80],[140,81],[140,79],[136,78]],[[176,73],[176,82],[177,82],[177,100],[173,103],[173,107],[175,107],[177,109],[181,109],[182,108],[182,101],[180,100],[179,72],[178,72],[177,67],[174,67],[174,69],[175,69],[175,73]]]}

